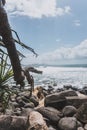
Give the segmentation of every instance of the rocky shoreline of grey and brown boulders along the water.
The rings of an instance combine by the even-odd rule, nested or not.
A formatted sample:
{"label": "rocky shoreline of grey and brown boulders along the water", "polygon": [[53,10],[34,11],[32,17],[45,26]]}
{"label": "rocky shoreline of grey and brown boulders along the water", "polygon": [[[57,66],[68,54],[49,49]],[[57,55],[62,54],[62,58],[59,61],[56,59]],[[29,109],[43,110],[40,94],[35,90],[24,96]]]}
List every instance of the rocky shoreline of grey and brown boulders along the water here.
{"label": "rocky shoreline of grey and brown boulders along the water", "polygon": [[0,103],[0,130],[87,130],[87,87],[17,91],[4,113]]}

